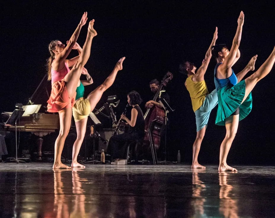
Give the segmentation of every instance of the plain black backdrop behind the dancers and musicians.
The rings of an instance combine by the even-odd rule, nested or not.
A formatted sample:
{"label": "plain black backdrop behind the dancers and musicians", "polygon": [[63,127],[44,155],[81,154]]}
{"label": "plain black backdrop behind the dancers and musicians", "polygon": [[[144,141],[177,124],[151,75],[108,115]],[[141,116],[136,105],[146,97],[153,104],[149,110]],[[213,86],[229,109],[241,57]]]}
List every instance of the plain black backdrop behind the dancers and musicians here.
{"label": "plain black backdrop behind the dancers and musicians", "polygon": [[[247,2],[247,3],[246,3]],[[249,3],[248,3],[249,2]],[[196,136],[195,115],[184,86],[186,76],[178,73],[183,60],[199,66],[218,27],[218,44],[231,46],[237,18],[244,11],[245,21],[240,46],[241,57],[234,65],[237,73],[258,54],[256,69],[275,45],[273,1],[9,1],[1,3],[1,111],[12,111],[16,102],[31,97],[46,73],[48,44],[68,40],[84,11],[88,21],[95,19],[98,36],[93,40],[91,57],[86,65],[94,84],[85,87],[85,95],[101,84],[116,61],[125,56],[123,70],[98,103],[108,95],[121,99],[118,114],[126,105],[127,93],[151,96],[149,81],[162,79],[167,70],[174,78],[167,92],[175,112],[171,114],[169,160],[191,163]],[[82,46],[87,24],[78,43]],[[73,51],[71,57],[77,53]],[[214,89],[210,62],[205,80]],[[248,73],[250,75],[250,73]],[[239,123],[238,133],[228,155],[228,164],[274,164],[274,68],[254,90],[253,109]],[[50,83],[49,83],[50,84]],[[48,85],[49,85],[48,84]],[[39,95],[45,95],[39,94]],[[47,96],[46,96],[47,98]],[[47,100],[47,99],[46,99]],[[219,147],[225,127],[215,125],[215,108],[210,116],[199,154],[201,164],[218,164]],[[145,110],[144,110],[145,111]]]}

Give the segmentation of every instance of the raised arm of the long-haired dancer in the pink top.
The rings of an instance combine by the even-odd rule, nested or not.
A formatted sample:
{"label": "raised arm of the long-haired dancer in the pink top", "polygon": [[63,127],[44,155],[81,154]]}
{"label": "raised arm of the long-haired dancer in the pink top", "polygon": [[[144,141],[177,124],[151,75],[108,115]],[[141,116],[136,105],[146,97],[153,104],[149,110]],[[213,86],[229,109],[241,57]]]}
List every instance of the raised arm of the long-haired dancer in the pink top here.
{"label": "raised arm of the long-haired dancer in the pink top", "polygon": [[55,57],[55,62],[52,63],[53,69],[58,70],[60,68],[59,65],[60,64],[62,65],[63,64],[62,62],[65,61],[65,59],[68,57],[69,53],[71,52],[71,50],[73,49],[73,46],[76,43],[81,27],[85,25],[86,21],[87,21],[87,12],[84,12],[76,30],[71,36],[71,39],[69,39],[67,46],[60,53],[57,52],[58,54]]}

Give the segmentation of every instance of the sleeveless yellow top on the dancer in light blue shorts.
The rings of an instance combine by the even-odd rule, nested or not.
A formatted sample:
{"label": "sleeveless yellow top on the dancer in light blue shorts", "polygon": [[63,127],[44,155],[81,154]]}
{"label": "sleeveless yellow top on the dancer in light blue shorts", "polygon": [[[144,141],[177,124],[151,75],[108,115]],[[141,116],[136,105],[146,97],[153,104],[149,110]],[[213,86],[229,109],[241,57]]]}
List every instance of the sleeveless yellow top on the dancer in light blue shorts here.
{"label": "sleeveless yellow top on the dancer in light blue shorts", "polygon": [[193,75],[187,77],[186,88],[190,94],[192,107],[195,112],[202,106],[205,96],[208,94],[208,90],[204,80],[200,82],[194,82],[192,77]]}

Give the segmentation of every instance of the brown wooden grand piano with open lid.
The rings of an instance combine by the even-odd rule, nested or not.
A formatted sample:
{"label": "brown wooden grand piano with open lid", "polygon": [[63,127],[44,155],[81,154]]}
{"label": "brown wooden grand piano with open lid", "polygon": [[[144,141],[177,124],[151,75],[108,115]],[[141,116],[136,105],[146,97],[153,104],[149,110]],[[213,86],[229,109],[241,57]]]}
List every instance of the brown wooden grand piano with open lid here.
{"label": "brown wooden grand piano with open lid", "polygon": [[[40,109],[35,111],[36,113],[31,113],[27,116],[24,116],[23,114],[23,116],[17,120],[17,132],[31,132],[39,137],[37,141],[37,161],[42,160],[43,136],[55,132],[57,129],[59,129],[59,115],[48,113],[46,111],[47,100],[49,98],[50,92],[51,84],[50,82],[47,82],[46,74],[33,95],[28,98],[28,100],[26,100],[26,104],[28,105],[33,105],[34,103],[40,104]],[[8,119],[11,114],[12,112],[4,112],[2,113],[2,118]],[[15,126],[5,126],[4,130],[15,132]]]}

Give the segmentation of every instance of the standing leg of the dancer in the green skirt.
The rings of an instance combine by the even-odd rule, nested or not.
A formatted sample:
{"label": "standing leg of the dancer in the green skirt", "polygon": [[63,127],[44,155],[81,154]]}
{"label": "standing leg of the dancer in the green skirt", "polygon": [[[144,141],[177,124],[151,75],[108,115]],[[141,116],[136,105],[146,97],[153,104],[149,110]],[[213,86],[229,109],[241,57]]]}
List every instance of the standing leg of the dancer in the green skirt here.
{"label": "standing leg of the dancer in the green skirt", "polygon": [[226,163],[226,159],[228,156],[228,152],[231,148],[232,142],[235,138],[239,125],[239,114],[233,115],[226,118],[226,136],[220,145],[220,164],[219,171],[237,171],[235,168],[228,166]]}

